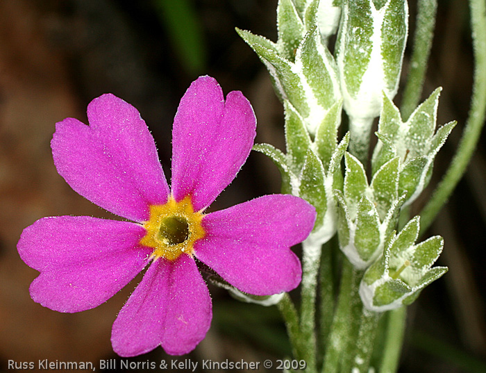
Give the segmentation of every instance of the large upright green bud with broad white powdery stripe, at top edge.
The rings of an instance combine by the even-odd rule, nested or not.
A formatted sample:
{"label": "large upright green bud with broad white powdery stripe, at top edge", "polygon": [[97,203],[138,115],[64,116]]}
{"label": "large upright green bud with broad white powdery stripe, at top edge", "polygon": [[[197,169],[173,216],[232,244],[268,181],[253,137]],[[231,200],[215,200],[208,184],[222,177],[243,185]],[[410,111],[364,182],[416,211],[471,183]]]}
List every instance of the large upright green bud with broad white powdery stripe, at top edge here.
{"label": "large upright green bud with broad white powdery stripe, at top edge", "polygon": [[393,98],[399,87],[408,3],[388,0],[376,8],[374,0],[343,0],[342,12],[337,68],[350,118],[352,152],[363,154],[373,119],[380,113],[382,92]]}

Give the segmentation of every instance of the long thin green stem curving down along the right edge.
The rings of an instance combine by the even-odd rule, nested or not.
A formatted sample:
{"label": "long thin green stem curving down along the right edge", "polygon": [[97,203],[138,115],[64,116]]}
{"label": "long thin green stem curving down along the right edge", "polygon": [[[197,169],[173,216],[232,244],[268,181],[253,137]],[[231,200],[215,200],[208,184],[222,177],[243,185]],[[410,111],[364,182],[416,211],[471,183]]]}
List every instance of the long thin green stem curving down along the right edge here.
{"label": "long thin green stem curving down along the right edge", "polygon": [[486,3],[484,0],[469,0],[471,8],[471,28],[476,69],[474,71],[473,96],[469,118],[462,134],[458,150],[444,179],[437,185],[432,198],[421,212],[421,233],[428,229],[439,210],[460,181],[471,160],[481,129],[485,122],[486,110]]}

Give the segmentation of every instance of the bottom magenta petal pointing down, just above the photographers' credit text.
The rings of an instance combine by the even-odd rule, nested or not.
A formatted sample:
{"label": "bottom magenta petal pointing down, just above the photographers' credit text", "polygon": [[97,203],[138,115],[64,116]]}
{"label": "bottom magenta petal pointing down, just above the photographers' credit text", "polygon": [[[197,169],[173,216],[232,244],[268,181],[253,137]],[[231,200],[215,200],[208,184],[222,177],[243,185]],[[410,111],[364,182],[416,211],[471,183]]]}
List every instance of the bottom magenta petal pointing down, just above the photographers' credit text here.
{"label": "bottom magenta petal pointing down, just above the photographers' credit text", "polygon": [[113,349],[136,356],[162,345],[182,355],[203,340],[211,323],[211,299],[194,259],[158,259],[121,309],[112,329]]}

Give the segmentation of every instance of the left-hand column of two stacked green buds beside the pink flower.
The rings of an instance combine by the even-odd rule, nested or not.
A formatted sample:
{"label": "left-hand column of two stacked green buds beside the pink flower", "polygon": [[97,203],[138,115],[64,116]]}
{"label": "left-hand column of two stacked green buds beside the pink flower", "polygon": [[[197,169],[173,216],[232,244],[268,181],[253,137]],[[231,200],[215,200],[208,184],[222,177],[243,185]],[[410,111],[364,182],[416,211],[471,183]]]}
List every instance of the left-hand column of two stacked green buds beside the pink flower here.
{"label": "left-hand column of two stacked green buds beside the pink flower", "polygon": [[[283,192],[315,206],[317,222],[311,236],[316,244],[336,231],[333,190],[342,188],[341,160],[349,144],[349,135],[337,141],[340,83],[334,57],[324,42],[327,37],[319,29],[330,22],[326,28],[335,31],[339,17],[324,19],[323,6],[326,1],[280,0],[277,42],[237,30],[267,66],[285,108],[286,154],[269,144],[254,149],[274,160],[282,174]],[[340,13],[339,1],[327,1],[329,6]]]}

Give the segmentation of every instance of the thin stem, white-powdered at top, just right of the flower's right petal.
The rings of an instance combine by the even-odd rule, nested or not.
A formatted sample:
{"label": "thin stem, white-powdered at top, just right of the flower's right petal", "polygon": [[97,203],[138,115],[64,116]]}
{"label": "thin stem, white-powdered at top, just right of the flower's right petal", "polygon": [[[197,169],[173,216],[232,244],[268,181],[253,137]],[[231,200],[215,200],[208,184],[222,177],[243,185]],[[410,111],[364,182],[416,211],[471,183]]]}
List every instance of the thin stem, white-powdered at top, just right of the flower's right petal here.
{"label": "thin stem, white-powdered at top, just right of the flower's right petal", "polygon": [[302,242],[302,290],[301,290],[301,338],[305,344],[305,357],[307,369],[314,372],[316,369],[316,292],[317,274],[321,258],[321,244],[312,241],[312,235]]}

